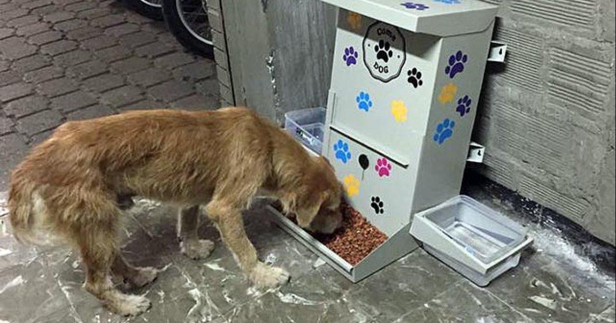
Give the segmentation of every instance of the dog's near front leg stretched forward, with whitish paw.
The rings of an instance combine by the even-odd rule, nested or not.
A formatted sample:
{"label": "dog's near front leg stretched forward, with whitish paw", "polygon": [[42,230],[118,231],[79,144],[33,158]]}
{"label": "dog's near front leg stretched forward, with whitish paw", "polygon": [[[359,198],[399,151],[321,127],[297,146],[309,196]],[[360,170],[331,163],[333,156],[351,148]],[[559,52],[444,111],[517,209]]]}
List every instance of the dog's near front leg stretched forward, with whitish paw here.
{"label": "dog's near front leg stretched forward, with whitish paw", "polygon": [[206,206],[206,212],[208,217],[216,223],[222,241],[227,244],[238,265],[251,282],[259,287],[276,287],[289,281],[290,276],[284,269],[259,261],[253,244],[246,236],[238,207],[214,199]]}

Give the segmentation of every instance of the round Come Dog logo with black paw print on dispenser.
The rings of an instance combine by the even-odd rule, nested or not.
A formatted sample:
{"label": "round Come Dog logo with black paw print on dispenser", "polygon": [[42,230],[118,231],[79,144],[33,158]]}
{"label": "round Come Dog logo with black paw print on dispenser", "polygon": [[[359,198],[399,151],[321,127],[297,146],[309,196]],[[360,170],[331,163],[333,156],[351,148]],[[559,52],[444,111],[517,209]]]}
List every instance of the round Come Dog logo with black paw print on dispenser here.
{"label": "round Come Dog logo with black paw print on dispenser", "polygon": [[397,78],[406,59],[404,38],[397,27],[384,22],[368,27],[363,38],[363,63],[373,78],[381,82]]}

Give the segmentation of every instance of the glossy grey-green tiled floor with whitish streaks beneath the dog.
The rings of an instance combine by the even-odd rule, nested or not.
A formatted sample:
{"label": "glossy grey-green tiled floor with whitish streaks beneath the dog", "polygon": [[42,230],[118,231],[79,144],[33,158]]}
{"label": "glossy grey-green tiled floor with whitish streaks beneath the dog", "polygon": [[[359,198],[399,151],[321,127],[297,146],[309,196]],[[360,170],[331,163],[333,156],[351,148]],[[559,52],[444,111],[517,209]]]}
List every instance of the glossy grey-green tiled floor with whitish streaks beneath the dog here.
{"label": "glossy grey-green tiled floor with whitish streaks beneath the dog", "polygon": [[[524,223],[507,202],[482,188],[468,191]],[[214,253],[200,261],[183,257],[175,211],[140,201],[126,216],[123,250],[134,264],[163,271],[152,285],[134,291],[147,294],[153,305],[134,318],[108,313],[81,289],[83,271],[74,252],[25,247],[0,233],[0,322],[615,321],[614,272],[569,252],[579,246],[532,223],[524,224],[533,230],[535,247],[517,268],[479,288],[421,249],[352,284],[270,222],[262,203],[245,219],[260,257],[290,271],[290,284],[251,287],[208,224],[201,236],[215,239]]]}

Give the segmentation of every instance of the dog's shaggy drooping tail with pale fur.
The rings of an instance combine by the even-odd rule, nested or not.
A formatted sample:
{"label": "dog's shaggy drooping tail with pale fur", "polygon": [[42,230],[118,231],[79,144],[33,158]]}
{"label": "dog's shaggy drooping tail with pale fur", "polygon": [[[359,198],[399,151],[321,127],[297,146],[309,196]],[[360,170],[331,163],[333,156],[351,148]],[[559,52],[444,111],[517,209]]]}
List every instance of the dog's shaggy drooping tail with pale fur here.
{"label": "dog's shaggy drooping tail with pale fur", "polygon": [[38,185],[25,178],[16,179],[15,176],[11,178],[7,201],[10,226],[15,239],[31,244],[49,242],[49,237],[44,232],[47,230],[43,230],[46,210]]}

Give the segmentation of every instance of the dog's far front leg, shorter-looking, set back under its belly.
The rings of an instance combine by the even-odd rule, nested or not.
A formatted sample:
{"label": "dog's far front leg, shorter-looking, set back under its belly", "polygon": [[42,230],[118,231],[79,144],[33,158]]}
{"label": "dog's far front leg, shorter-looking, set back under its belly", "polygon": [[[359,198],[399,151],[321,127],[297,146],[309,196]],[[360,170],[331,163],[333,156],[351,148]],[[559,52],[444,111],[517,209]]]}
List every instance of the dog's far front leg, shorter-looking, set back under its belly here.
{"label": "dog's far front leg, shorter-looking, set back under its belly", "polygon": [[199,239],[201,214],[198,205],[185,207],[177,213],[177,237],[180,240],[180,249],[184,255],[193,259],[203,259],[214,250],[214,242]]}

